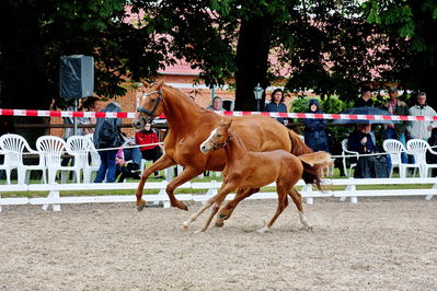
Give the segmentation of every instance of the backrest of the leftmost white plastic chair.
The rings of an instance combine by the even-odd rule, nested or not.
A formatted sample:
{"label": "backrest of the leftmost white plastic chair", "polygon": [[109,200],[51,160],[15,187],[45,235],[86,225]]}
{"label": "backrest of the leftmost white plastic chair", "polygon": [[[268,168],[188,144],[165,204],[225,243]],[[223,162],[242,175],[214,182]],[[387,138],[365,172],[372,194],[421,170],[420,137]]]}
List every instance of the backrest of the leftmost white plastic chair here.
{"label": "backrest of the leftmost white plastic chair", "polygon": [[23,164],[22,153],[26,150],[31,151],[27,141],[19,135],[5,133],[0,137],[0,149],[7,154],[4,155],[4,164],[18,166]]}

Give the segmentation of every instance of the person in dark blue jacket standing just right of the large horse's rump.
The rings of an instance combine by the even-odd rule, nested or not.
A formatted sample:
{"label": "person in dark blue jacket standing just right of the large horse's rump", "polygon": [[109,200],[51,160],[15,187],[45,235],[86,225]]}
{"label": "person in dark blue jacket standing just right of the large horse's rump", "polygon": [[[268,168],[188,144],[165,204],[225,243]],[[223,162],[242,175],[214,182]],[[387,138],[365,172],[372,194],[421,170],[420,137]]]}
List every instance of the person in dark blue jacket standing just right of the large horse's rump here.
{"label": "person in dark blue jacket standing just right of the large horse's rump", "polygon": [[[323,114],[320,109],[320,104],[317,100],[310,100],[310,110],[309,113]],[[307,118],[302,120],[304,125],[304,142],[314,152],[317,151],[330,151],[330,146],[327,142],[327,135],[325,131],[326,119],[314,119]]]}

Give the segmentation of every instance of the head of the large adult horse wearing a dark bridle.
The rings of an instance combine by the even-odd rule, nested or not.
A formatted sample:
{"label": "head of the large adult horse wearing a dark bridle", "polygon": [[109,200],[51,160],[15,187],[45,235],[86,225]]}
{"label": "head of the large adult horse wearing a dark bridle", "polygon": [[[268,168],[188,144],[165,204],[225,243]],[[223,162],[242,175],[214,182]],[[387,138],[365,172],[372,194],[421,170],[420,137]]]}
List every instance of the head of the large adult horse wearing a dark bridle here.
{"label": "head of the large adult horse wearing a dark bridle", "polygon": [[142,82],[142,96],[137,108],[137,114],[135,115],[135,119],[133,121],[133,126],[136,129],[142,129],[145,124],[151,123],[154,117],[161,115],[163,112],[163,82],[161,81],[158,84]]}

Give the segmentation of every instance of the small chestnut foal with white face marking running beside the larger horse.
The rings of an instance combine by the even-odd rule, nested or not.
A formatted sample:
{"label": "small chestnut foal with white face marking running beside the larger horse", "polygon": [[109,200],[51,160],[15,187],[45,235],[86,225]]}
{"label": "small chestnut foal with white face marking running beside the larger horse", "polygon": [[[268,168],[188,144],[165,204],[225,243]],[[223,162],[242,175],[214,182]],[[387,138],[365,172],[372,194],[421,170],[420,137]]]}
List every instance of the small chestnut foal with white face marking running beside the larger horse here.
{"label": "small chestnut foal with white face marking running beside the larger horse", "polygon": [[[300,222],[304,228],[312,229],[303,216],[302,197],[294,186],[303,174],[302,163],[312,164],[311,160],[317,158],[315,160],[318,160],[318,163],[323,164],[330,161],[331,155],[326,152],[317,152],[303,154],[300,156],[301,159],[299,159],[284,150],[267,152],[248,151],[238,133],[230,129],[232,119],[222,119],[218,128],[214,129],[209,138],[200,144],[200,151],[203,153],[225,148],[227,164],[223,171],[223,184],[221,185],[220,191],[208,199],[206,205],[185,221],[182,226],[186,229],[191,222],[196,220],[206,209],[214,205],[211,214],[207,219],[205,225],[200,229],[200,231],[206,231],[211,219],[220,209],[221,202],[229,193],[237,190],[237,196],[239,196],[239,193],[244,188],[261,188],[276,182],[276,191],[278,194],[276,213],[273,216],[271,221],[264,225],[264,228],[258,230],[258,232],[269,231],[273,223],[288,206],[287,194],[291,197],[299,210]],[[311,167],[313,173],[317,175],[315,183],[320,186],[320,167],[318,164],[312,164]],[[314,181],[306,182],[313,183]],[[233,206],[233,208],[235,206]],[[216,226],[222,225],[222,220],[229,218],[233,208],[220,212],[220,220],[216,222]]]}

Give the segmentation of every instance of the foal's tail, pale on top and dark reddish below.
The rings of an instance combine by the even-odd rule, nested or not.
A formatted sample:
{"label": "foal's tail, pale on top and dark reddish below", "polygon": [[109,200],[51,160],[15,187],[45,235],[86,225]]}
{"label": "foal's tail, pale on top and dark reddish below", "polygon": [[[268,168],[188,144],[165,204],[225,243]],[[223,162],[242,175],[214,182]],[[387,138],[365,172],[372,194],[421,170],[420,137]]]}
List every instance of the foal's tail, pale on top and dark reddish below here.
{"label": "foal's tail, pale on top and dark reddish below", "polygon": [[322,177],[322,168],[332,163],[331,154],[324,151],[307,153],[298,156],[303,165],[302,178],[307,184],[313,184],[319,190]]}

